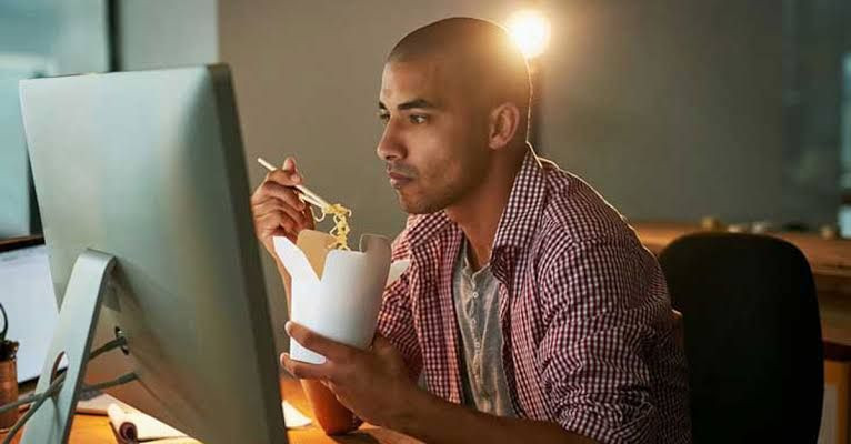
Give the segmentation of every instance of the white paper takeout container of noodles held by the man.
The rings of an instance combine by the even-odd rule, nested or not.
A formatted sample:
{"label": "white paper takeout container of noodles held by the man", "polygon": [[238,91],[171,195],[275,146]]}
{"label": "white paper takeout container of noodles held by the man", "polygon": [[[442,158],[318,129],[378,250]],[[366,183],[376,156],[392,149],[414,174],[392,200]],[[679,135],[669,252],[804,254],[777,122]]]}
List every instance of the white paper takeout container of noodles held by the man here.
{"label": "white paper takeout container of noodles held by the man", "polygon": [[[329,250],[334,239],[302,230],[297,244],[276,236],[274,251],[292,278],[290,319],[328,339],[366,350],[376,333],[381,297],[410,261],[390,264],[390,241],[364,234],[361,251]],[[324,356],[294,340],[293,360],[321,364]]]}

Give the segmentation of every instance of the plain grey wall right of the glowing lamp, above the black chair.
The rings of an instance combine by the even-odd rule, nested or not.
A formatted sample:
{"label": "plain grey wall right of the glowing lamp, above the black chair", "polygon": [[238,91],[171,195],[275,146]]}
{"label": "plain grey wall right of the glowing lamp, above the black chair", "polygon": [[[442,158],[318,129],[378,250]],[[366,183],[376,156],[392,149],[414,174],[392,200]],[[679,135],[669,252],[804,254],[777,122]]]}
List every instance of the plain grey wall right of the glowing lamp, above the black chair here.
{"label": "plain grey wall right of the glowing lamp, above the black chair", "polygon": [[772,1],[549,1],[542,149],[632,220],[835,221],[837,145],[784,140]]}

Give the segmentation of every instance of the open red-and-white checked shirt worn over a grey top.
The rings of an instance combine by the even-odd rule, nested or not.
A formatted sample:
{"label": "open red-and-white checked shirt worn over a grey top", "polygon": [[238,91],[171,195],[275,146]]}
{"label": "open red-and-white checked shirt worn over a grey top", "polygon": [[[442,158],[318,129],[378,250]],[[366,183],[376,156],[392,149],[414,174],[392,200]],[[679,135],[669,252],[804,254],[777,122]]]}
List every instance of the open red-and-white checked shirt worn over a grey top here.
{"label": "open red-and-white checked shirt worn over a grey top", "polygon": [[[428,390],[462,402],[452,265],[463,232],[412,215],[393,243],[411,266],[384,291],[378,331]],[[691,441],[685,360],[659,264],[579,178],[529,150],[491,254],[502,364],[518,416],[603,443]]]}

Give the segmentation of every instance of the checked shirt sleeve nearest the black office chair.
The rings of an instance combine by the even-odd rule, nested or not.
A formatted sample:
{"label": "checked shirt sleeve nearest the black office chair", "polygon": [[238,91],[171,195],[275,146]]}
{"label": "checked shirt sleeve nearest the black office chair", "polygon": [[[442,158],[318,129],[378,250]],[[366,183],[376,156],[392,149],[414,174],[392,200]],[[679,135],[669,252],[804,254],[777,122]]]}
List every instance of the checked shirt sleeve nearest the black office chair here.
{"label": "checked shirt sleeve nearest the black office chair", "polygon": [[598,239],[544,276],[539,369],[559,424],[601,443],[654,441],[648,355],[670,311],[655,260],[632,239]]}

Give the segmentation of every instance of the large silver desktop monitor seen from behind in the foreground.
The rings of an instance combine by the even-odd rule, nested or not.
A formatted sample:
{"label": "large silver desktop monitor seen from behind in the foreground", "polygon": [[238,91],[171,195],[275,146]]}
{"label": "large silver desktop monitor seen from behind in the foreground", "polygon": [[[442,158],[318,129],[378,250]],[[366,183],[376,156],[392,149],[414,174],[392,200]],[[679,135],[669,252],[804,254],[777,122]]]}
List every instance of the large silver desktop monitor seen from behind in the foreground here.
{"label": "large silver desktop monitor seen from behind in the foreground", "polygon": [[77,301],[60,329],[88,329],[62,317],[97,279],[78,256],[114,258],[90,346],[127,347],[87,383],[136,373],[107,392],[204,443],[287,442],[228,68],[26,80],[20,98],[54,289]]}

